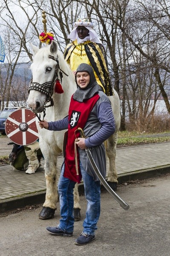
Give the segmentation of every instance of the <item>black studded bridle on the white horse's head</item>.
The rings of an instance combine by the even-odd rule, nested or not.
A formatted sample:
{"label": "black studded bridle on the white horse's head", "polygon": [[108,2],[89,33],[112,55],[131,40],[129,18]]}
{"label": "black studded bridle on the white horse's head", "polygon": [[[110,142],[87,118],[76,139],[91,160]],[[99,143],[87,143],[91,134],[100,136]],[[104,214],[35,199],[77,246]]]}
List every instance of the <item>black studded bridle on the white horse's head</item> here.
{"label": "black studded bridle on the white horse's head", "polygon": [[[52,94],[53,94],[53,90],[54,90],[54,84],[56,83],[56,80],[59,80],[58,79],[58,70],[60,70],[61,83],[62,83],[63,73],[66,76],[68,76],[63,70],[61,70],[59,62],[58,62],[58,57],[55,58],[54,56],[49,55],[48,58],[51,58],[52,60],[56,61],[55,73],[54,73],[52,81],[45,82],[43,84],[39,84],[37,82],[32,82],[31,81],[30,84],[29,84],[29,88],[28,88],[28,93],[30,92],[30,90],[37,90],[41,93],[46,94],[46,102],[45,102],[44,108],[43,108],[43,119],[44,119],[44,116],[46,115],[46,113],[45,113],[46,108],[54,106],[54,102],[53,102],[53,99],[52,99]],[[46,90],[47,88],[49,88],[49,91]],[[48,102],[50,102],[50,105],[46,106],[46,103],[48,103]],[[35,115],[37,116],[39,121],[41,121],[40,117],[37,115],[37,113],[35,113]]]}

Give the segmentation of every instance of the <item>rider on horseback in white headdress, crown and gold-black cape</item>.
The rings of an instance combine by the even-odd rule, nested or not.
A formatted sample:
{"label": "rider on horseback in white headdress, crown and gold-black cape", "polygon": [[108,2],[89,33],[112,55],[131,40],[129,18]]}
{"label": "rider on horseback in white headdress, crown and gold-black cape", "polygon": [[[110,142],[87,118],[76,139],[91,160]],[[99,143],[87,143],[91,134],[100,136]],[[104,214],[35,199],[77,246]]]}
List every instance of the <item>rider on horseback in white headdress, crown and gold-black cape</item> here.
{"label": "rider on horseback in white headdress, crown and gold-black cape", "polygon": [[114,95],[109,79],[109,70],[104,46],[98,38],[93,23],[88,19],[78,19],[73,23],[74,29],[68,38],[72,40],[66,45],[64,58],[73,73],[81,63],[92,66],[95,78],[107,96]]}

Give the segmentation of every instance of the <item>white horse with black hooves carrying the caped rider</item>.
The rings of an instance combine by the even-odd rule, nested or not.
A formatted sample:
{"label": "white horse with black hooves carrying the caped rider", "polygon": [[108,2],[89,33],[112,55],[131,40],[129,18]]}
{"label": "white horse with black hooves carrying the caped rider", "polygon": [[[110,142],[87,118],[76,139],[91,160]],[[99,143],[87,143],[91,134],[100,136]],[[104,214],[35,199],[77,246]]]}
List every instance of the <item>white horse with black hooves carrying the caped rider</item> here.
{"label": "white horse with black hooves carrying the caped rider", "polygon": [[[34,60],[31,65],[32,83],[29,85],[28,105],[34,113],[39,113],[42,120],[44,113],[47,122],[63,119],[68,115],[69,103],[72,94],[77,89],[75,77],[69,65],[63,58],[63,54],[58,51],[58,45],[55,41],[48,47],[41,49],[32,45]],[[62,84],[63,93],[55,93],[55,81],[59,79]],[[118,94],[109,96],[112,103],[112,109],[115,117],[115,134],[107,140],[107,156],[109,157],[109,185],[116,190],[117,172],[115,169],[117,132],[120,126],[120,101]],[[53,105],[54,104],[54,105]],[[48,105],[51,105],[48,107]],[[53,105],[53,106],[52,106]],[[46,199],[43,209],[39,214],[40,219],[53,218],[56,203],[58,201],[57,191],[57,157],[63,149],[63,135],[65,131],[49,131],[40,129],[37,125],[40,137],[40,149],[45,159],[45,177],[46,177]],[[80,218],[80,204],[78,195],[78,186],[74,189],[74,216],[75,220]]]}

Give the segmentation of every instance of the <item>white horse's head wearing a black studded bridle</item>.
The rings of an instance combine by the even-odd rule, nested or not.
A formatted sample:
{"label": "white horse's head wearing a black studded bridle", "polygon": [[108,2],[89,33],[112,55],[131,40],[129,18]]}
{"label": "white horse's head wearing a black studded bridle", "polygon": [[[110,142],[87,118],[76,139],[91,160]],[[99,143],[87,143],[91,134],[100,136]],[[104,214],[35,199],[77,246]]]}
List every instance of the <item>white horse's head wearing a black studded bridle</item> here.
{"label": "white horse's head wearing a black studded bridle", "polygon": [[[58,45],[55,41],[41,49],[31,45],[34,61],[31,64],[32,82],[29,85],[28,105],[34,113],[40,113],[51,100],[53,85],[58,76]],[[60,77],[58,77],[61,79]]]}

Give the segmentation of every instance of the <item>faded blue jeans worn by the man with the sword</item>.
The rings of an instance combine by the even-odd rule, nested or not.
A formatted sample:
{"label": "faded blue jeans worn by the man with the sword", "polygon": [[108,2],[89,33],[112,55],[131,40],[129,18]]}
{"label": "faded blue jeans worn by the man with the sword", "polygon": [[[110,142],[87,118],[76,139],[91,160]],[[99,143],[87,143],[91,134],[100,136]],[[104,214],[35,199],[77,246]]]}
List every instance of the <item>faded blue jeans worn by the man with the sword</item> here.
{"label": "faded blue jeans worn by the man with the sword", "polygon": [[[86,218],[83,222],[83,232],[94,235],[97,229],[97,222],[100,216],[100,181],[94,181],[93,177],[86,173],[80,163],[81,175],[84,182],[84,192],[87,200]],[[61,219],[58,225],[61,230],[73,232],[74,229],[74,196],[73,189],[75,182],[63,177],[64,165],[61,170],[61,176],[58,182],[58,194],[60,197]]]}

